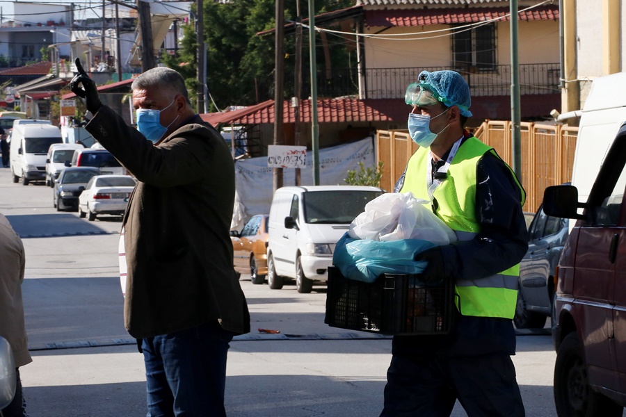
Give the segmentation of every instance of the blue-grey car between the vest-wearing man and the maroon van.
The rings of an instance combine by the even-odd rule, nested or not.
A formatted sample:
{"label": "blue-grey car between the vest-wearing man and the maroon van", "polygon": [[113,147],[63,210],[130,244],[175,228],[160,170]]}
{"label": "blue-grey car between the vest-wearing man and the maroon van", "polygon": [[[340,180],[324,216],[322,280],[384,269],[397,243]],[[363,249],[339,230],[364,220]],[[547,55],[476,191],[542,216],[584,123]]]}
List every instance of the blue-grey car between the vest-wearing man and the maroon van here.
{"label": "blue-grey car between the vest-wearing man and the maroon van", "polygon": [[513,322],[517,329],[542,329],[552,315],[554,275],[569,234],[568,219],[545,214],[543,206],[528,228],[528,250],[520,263],[520,289]]}

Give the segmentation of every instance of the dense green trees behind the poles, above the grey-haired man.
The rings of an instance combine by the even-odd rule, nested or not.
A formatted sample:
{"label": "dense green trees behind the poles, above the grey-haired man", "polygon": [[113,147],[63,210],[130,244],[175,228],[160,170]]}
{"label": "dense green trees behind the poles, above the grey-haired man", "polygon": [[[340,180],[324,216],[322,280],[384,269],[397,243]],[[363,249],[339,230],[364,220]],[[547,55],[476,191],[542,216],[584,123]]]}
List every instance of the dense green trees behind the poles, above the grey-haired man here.
{"label": "dense green trees behind the poles, above the grey-haired man", "polygon": [[[300,1],[300,13],[308,16],[307,2]],[[326,13],[353,6],[353,0],[316,1],[316,13]],[[285,23],[296,20],[296,4],[285,4]],[[274,95],[274,42],[272,34],[257,33],[275,28],[275,0],[232,0],[228,2],[204,2],[204,38],[207,43],[207,86],[216,105],[220,108],[239,105],[248,106]],[[195,100],[198,51],[195,26],[183,26],[184,38],[179,56],[163,56],[163,62],[183,75]],[[319,36],[319,35],[317,35]],[[348,52],[341,38],[329,35],[330,60],[333,69],[348,67]],[[284,39],[284,97],[294,95],[295,36]],[[303,31],[303,96],[309,95],[309,44],[308,32]],[[323,69],[323,49],[317,39],[318,67]],[[355,60],[353,59],[354,63]],[[210,100],[209,100],[210,101]],[[209,103],[211,111],[216,111]]]}

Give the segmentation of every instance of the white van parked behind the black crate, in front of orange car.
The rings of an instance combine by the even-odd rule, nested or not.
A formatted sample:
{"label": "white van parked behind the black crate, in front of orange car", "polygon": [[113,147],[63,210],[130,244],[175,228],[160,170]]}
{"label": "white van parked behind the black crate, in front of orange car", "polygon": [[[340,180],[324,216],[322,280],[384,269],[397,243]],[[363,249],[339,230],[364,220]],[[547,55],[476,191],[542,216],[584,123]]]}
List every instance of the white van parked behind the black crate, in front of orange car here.
{"label": "white van parked behind the black crate, in front of orange car", "polygon": [[282,187],[272,199],[268,225],[267,282],[280,289],[296,279],[298,293],[326,281],[332,252],[365,204],[385,191],[367,186]]}

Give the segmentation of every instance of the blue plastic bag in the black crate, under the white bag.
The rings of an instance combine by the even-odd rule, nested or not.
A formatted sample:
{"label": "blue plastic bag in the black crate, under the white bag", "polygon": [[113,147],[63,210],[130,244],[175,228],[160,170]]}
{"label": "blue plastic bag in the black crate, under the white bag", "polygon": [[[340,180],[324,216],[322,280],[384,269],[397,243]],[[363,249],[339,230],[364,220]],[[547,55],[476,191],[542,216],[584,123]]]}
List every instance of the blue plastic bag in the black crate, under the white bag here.
{"label": "blue plastic bag in the black crate, under the white bag", "polygon": [[428,240],[404,239],[380,242],[354,239],[344,234],[332,254],[332,263],[342,275],[356,281],[374,282],[380,274],[419,274],[426,261],[413,261],[413,254],[435,246]]}

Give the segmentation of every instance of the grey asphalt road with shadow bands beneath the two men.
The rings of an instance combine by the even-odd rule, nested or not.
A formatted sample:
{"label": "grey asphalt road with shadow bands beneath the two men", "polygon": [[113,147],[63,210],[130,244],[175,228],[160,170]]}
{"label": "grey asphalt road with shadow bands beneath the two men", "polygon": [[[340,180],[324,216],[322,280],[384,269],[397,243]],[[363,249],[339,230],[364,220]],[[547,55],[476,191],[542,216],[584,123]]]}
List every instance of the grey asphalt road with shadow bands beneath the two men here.
{"label": "grey asphalt road with shadow bands beneath the two men", "polygon": [[[45,186],[0,169],[0,213],[26,247],[23,284],[33,363],[21,369],[31,417],[145,416],[143,357],[122,325],[120,222],[57,213]],[[323,323],[326,286],[298,294],[241,277],[252,332],[231,343],[229,416],[378,416],[388,337]],[[276,330],[266,334],[259,329]],[[549,333],[517,336],[513,357],[528,416],[555,416]],[[466,416],[457,404],[452,416]]]}

